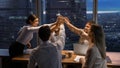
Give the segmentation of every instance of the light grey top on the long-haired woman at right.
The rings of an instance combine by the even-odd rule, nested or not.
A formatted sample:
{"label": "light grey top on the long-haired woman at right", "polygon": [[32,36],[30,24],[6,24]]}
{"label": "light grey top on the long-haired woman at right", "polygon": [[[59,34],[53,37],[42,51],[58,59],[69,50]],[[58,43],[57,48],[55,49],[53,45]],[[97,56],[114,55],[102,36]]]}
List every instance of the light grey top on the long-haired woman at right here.
{"label": "light grey top on the long-haired woman at right", "polygon": [[87,51],[86,64],[84,68],[107,68],[106,60],[102,58],[96,46],[91,47]]}

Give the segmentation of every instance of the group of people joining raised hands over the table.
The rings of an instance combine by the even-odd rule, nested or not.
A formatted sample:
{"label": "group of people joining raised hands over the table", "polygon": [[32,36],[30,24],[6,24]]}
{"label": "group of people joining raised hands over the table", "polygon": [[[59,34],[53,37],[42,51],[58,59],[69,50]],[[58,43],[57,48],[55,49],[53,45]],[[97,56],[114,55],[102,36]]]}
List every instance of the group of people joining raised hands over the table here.
{"label": "group of people joining raised hands over the table", "polygon": [[82,68],[107,68],[104,32],[94,21],[88,21],[85,28],[81,29],[72,25],[69,18],[58,16],[54,23],[38,26],[38,17],[32,14],[26,23],[28,25],[20,29],[16,41],[10,45],[9,54],[11,58],[23,55],[24,47],[31,47],[33,33],[38,33],[40,45],[33,49],[28,68],[35,68],[36,65],[39,68],[62,68],[61,51],[65,45],[65,24],[80,36],[80,44],[87,43],[89,46],[85,59],[80,59]]}

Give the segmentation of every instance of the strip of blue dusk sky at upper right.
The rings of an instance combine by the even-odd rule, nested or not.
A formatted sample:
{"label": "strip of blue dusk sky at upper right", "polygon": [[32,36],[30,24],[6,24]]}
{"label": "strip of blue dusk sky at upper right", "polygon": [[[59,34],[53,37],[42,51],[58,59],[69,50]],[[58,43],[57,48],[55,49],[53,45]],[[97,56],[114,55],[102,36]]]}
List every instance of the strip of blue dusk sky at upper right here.
{"label": "strip of blue dusk sky at upper right", "polygon": [[[92,10],[93,0],[87,0],[87,10]],[[120,0],[98,0],[98,11],[120,11]]]}

